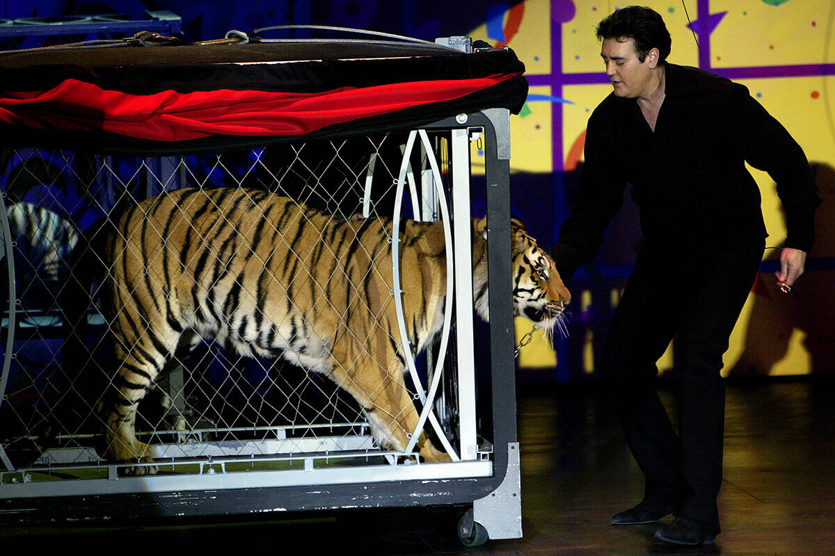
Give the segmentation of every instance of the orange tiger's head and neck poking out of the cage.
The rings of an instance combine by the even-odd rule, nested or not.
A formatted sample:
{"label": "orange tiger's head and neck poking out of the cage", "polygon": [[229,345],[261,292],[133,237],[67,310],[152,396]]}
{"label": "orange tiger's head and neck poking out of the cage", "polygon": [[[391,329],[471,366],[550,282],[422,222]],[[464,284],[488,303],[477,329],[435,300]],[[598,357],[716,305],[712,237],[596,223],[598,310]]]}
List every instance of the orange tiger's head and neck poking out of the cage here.
{"label": "orange tiger's head and neck poking out of the cage", "polygon": [[[487,238],[486,219],[473,222],[474,232]],[[571,301],[571,294],[554,266],[554,260],[544,249],[539,248],[536,239],[525,231],[522,221],[512,218],[510,223],[511,258],[514,288],[514,315],[529,319],[546,331],[554,327],[565,333],[564,308]],[[486,253],[486,242],[484,246]],[[475,253],[473,253],[475,258]],[[488,319],[487,263],[482,254],[481,261],[473,260],[473,286],[475,306],[478,313]],[[479,285],[483,283],[483,287]]]}

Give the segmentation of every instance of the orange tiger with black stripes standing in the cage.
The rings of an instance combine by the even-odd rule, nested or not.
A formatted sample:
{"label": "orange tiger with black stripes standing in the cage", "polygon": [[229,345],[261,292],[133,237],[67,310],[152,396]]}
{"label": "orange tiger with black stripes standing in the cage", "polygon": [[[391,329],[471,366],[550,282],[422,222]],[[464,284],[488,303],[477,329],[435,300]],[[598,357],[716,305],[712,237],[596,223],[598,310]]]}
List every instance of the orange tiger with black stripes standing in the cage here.
{"label": "orange tiger with black stripes standing in the cage", "polygon": [[[553,328],[570,294],[524,225],[511,229],[514,313]],[[105,458],[125,464],[122,474],[159,472],[136,438],[137,407],[200,338],[321,373],[356,400],[376,445],[406,448],[418,415],[404,383],[391,230],[391,218],[342,217],[252,188],[184,188],[128,208],[102,252],[118,365],[101,407]],[[487,232],[486,218],[472,219],[473,304],[485,320]],[[402,221],[399,250],[404,320],[420,353],[443,328],[443,223]],[[425,434],[416,446],[426,463],[450,460]]]}

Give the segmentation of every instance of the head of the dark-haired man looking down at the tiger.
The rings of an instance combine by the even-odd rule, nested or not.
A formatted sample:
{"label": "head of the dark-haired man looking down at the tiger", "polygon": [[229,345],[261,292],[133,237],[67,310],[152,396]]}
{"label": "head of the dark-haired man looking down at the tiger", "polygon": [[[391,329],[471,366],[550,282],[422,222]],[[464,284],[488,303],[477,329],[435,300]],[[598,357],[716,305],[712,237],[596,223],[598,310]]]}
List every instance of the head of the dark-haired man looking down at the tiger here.
{"label": "head of the dark-haired man looking down at the tiger", "polygon": [[649,97],[670,53],[670,33],[660,15],[640,6],[621,8],[600,22],[597,36],[615,96]]}

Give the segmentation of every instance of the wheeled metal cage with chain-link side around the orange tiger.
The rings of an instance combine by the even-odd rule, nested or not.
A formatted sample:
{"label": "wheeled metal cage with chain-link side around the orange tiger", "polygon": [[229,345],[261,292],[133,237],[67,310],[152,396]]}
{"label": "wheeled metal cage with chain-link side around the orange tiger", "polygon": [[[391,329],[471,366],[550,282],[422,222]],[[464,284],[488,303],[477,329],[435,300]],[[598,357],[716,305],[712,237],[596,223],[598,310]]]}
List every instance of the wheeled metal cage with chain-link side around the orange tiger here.
{"label": "wheeled metal cage with chain-link side around the orange tiger", "polygon": [[[472,504],[463,537],[479,526],[490,538],[521,536],[507,110],[244,152],[135,158],[18,148],[2,162],[5,520]],[[114,208],[209,187],[266,189],[342,218],[391,218],[396,306],[400,277],[413,270],[397,266],[402,220],[447,224],[454,279],[444,333],[424,353],[404,350],[420,413],[405,450],[378,446],[357,403],[310,369],[244,358],[209,340],[175,358],[139,406],[138,435],[153,445],[160,473],[124,477],[123,466],[104,460],[95,404],[113,376],[108,320],[91,303],[83,331],[68,327],[68,260]],[[488,325],[470,302],[473,205],[490,223]],[[408,343],[403,324],[393,339]],[[452,461],[417,458],[422,432]]]}

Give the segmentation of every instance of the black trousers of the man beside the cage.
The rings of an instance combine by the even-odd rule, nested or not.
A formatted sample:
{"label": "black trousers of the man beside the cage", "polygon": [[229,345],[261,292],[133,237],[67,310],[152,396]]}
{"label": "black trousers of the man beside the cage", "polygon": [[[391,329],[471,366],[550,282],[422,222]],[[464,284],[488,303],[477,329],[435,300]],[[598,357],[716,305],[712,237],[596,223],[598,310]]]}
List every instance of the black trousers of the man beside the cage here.
{"label": "black trousers of the man beside the cage", "polygon": [[[647,247],[615,310],[604,377],[626,442],[644,473],[645,501],[718,533],[725,383],[722,355],[756,278],[764,243],[696,253]],[[655,393],[655,363],[676,337],[678,433]]]}

